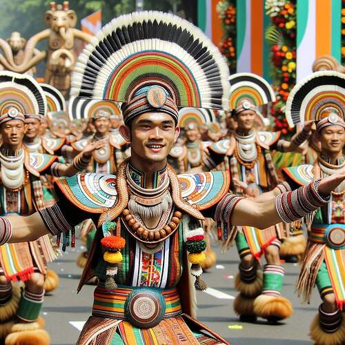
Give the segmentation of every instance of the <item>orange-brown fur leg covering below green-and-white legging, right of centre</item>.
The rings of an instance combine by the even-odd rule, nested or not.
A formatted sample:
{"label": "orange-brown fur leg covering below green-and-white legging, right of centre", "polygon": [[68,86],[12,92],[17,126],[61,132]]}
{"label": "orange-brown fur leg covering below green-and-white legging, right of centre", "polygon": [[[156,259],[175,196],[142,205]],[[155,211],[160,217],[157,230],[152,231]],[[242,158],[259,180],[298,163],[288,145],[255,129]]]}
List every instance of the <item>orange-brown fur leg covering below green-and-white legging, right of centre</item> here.
{"label": "orange-brown fur leg covering below green-and-white legging, right of centre", "polygon": [[254,313],[268,321],[287,319],[293,314],[291,302],[282,296],[259,295],[254,301]]}

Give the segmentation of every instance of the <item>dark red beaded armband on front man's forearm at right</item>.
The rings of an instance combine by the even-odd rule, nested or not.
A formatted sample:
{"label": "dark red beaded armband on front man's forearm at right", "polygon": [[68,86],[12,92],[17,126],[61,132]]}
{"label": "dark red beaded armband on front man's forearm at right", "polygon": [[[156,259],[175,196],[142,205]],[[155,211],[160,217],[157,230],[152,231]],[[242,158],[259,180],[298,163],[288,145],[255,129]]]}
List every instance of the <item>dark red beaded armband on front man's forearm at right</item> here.
{"label": "dark red beaded armband on front man's forearm at right", "polygon": [[320,179],[317,179],[293,192],[286,192],[277,196],[275,206],[282,221],[290,223],[300,219],[329,201],[329,195],[326,199],[319,195],[317,191],[319,182]]}

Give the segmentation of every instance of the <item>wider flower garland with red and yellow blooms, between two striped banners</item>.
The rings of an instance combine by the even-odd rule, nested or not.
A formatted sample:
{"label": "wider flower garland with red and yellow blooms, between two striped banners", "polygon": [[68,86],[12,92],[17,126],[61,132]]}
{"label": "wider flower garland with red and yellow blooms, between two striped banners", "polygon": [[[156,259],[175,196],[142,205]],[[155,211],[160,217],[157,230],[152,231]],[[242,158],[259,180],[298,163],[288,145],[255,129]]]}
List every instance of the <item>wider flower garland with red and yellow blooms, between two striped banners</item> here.
{"label": "wider flower garland with red and yellow blooms, between two striped banners", "polygon": [[275,130],[290,136],[292,128],[282,108],[296,82],[296,0],[266,0],[265,9],[272,22],[265,36],[271,45],[271,75],[277,95],[270,114],[275,119]]}

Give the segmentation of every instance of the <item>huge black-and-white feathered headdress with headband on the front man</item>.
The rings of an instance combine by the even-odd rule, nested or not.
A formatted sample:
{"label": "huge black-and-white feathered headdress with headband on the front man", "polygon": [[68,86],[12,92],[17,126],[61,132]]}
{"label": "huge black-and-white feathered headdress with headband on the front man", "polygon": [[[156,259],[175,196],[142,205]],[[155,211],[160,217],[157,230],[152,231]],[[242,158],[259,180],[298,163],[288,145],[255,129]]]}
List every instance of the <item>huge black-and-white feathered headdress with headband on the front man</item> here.
{"label": "huge black-and-white feathered headdress with headband on the front man", "polygon": [[228,66],[192,23],[173,14],[125,14],[103,27],[79,55],[72,97],[124,102],[128,124],[143,112],[227,109]]}

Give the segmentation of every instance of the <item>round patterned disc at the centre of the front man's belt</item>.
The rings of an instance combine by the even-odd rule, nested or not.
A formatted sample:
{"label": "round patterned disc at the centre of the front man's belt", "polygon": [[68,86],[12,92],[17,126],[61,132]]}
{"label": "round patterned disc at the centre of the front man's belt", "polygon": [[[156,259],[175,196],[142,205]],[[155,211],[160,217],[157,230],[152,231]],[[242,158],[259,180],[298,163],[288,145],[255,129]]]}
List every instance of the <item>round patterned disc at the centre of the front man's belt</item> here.
{"label": "round patterned disc at the centre of the front man's belt", "polygon": [[127,296],[124,310],[133,326],[152,328],[163,319],[166,301],[158,290],[139,288]]}

